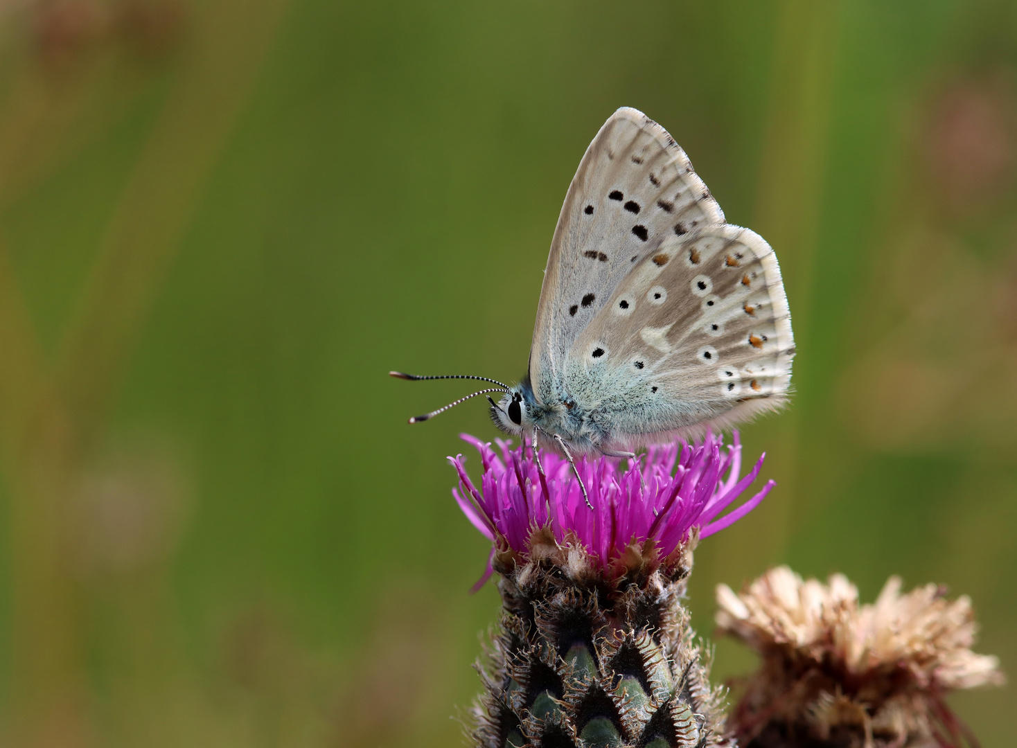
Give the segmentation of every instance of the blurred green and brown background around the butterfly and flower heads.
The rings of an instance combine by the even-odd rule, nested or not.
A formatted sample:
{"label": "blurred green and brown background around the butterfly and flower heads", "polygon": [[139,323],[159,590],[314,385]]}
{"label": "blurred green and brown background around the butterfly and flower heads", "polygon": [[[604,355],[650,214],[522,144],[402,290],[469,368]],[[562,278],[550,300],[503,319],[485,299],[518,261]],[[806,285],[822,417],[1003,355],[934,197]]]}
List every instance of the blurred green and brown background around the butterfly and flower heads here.
{"label": "blurred green and brown background around the butterfly and flower heads", "polygon": [[[1017,672],[1012,0],[0,4],[0,742],[460,745],[495,618],[444,457],[523,374],[618,106],[777,249],[789,562],[972,597]],[[753,667],[718,643],[720,678]],[[1013,687],[962,694],[986,748]],[[459,709],[459,711],[457,711]]]}

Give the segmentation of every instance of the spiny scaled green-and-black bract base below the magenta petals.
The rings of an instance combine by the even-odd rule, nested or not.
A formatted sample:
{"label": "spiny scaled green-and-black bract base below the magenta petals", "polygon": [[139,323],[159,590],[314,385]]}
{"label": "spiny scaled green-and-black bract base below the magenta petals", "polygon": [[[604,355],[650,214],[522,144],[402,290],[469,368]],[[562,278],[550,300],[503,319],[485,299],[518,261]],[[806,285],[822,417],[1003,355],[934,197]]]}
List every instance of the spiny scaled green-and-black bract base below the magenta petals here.
{"label": "spiny scaled green-and-black bract base below the magenta petals", "polygon": [[480,667],[475,745],[730,746],[722,689],[709,685],[680,604],[691,552],[669,573],[646,559],[612,578],[581,546],[546,541],[528,559],[496,554],[504,607]]}

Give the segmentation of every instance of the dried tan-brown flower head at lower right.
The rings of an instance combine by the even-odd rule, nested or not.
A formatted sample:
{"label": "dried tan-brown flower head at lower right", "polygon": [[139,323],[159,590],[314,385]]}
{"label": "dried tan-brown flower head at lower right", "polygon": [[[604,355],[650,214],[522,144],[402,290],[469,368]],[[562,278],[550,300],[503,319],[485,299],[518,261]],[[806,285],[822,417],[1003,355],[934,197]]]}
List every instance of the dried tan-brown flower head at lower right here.
{"label": "dried tan-brown flower head at lower right", "polygon": [[[743,746],[843,748],[973,743],[943,701],[952,689],[999,684],[995,657],[971,651],[971,601],[926,584],[901,595],[891,577],[873,605],[834,574],[824,584],[786,566],[735,594],[717,587],[721,633],[763,658],[731,716]],[[816,741],[822,741],[817,743]]]}

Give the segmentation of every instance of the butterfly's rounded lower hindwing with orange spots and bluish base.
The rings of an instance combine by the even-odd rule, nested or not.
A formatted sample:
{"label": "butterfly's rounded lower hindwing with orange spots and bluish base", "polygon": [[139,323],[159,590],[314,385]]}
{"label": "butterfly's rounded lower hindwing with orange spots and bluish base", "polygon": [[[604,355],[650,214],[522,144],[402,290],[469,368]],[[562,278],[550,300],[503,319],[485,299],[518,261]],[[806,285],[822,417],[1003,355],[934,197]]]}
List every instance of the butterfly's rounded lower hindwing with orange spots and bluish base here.
{"label": "butterfly's rounded lower hindwing with orange spots and bluish base", "polygon": [[576,338],[564,381],[611,443],[637,446],[779,407],[793,356],[770,245],[706,226],[635,263]]}

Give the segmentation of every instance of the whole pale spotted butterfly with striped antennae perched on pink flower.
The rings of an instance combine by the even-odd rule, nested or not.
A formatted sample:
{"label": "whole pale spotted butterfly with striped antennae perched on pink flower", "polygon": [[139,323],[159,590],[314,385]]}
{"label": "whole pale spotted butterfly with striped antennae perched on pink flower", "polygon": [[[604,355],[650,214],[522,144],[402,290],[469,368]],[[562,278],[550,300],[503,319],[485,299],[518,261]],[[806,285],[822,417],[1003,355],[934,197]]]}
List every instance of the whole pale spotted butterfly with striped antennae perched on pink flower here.
{"label": "whole pale spotted butterfly with striped antennae perched on pink flower", "polygon": [[[663,127],[623,107],[600,128],[558,216],[526,376],[491,419],[573,455],[634,457],[787,399],[794,337],[770,245],[725,223]],[[577,473],[578,476],[578,473]],[[584,490],[585,493],[585,490]]]}

